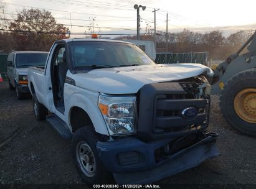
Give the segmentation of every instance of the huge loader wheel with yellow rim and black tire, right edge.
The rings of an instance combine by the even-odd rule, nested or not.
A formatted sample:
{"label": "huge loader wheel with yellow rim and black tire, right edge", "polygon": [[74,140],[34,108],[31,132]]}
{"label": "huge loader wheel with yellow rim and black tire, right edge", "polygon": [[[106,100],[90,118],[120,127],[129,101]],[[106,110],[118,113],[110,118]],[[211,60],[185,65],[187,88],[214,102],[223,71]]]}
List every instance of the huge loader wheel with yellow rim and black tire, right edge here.
{"label": "huge loader wheel with yellow rim and black tire, right edge", "polygon": [[220,109],[235,129],[256,135],[256,69],[242,71],[227,81]]}

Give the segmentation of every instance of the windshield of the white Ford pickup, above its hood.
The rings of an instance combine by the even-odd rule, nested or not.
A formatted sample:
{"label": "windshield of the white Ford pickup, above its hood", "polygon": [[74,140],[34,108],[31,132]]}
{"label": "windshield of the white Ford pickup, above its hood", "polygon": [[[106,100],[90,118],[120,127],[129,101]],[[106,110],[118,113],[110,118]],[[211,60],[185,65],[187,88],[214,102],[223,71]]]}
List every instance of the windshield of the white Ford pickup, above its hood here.
{"label": "windshield of the white Ford pickup, above its hood", "polygon": [[154,64],[139,47],[118,42],[72,42],[70,58],[75,68],[127,67]]}

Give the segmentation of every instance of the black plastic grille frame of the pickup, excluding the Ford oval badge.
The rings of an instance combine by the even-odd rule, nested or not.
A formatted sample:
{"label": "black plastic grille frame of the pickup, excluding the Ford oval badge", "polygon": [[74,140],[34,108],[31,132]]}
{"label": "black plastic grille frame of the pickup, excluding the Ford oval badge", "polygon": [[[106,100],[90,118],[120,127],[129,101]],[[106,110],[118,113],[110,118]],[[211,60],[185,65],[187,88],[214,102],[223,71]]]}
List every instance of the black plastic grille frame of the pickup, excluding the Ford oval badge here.
{"label": "black plastic grille frame of the pickup, excluding the Ford oval badge", "polygon": [[[208,126],[209,99],[194,98],[178,82],[151,83],[143,86],[139,93],[137,133],[145,141],[184,136]],[[181,111],[188,107],[203,112],[193,119],[184,119]],[[162,115],[161,111],[176,112]]]}

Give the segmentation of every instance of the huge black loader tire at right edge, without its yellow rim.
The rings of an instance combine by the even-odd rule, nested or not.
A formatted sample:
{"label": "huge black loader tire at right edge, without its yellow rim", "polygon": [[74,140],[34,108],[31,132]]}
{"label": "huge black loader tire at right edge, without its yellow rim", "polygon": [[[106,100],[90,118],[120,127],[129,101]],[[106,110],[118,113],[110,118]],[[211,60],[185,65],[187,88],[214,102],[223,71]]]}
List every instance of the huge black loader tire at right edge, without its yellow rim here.
{"label": "huge black loader tire at right edge, without its yellow rim", "polygon": [[234,108],[235,96],[242,90],[256,88],[256,69],[245,70],[232,76],[225,83],[220,96],[220,109],[224,118],[231,126],[240,132],[256,136],[256,124],[247,122],[236,113]]}

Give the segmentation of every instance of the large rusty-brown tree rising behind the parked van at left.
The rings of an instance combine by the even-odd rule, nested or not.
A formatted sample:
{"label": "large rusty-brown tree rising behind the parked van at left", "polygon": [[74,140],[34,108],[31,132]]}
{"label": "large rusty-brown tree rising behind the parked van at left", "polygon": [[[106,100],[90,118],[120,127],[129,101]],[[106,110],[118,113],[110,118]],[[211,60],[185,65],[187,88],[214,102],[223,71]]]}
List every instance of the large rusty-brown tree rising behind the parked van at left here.
{"label": "large rusty-brown tree rising behind the parked van at left", "polygon": [[57,24],[49,11],[23,9],[9,25],[17,50],[49,50],[55,40],[67,38],[69,28]]}

